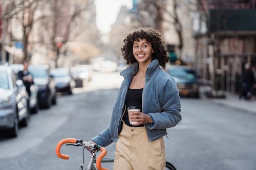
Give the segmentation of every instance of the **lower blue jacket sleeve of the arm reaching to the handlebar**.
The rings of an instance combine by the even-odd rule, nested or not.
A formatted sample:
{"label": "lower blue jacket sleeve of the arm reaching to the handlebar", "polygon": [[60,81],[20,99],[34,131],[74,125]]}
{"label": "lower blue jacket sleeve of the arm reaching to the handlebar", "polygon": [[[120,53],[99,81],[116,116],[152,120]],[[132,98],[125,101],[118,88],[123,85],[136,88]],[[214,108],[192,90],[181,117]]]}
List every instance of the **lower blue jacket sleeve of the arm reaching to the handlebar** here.
{"label": "lower blue jacket sleeve of the arm reaching to the handlebar", "polygon": [[106,129],[104,129],[100,134],[92,138],[92,141],[96,142],[101,147],[106,147],[107,145],[112,143],[113,140],[111,139],[109,126],[106,127]]}

